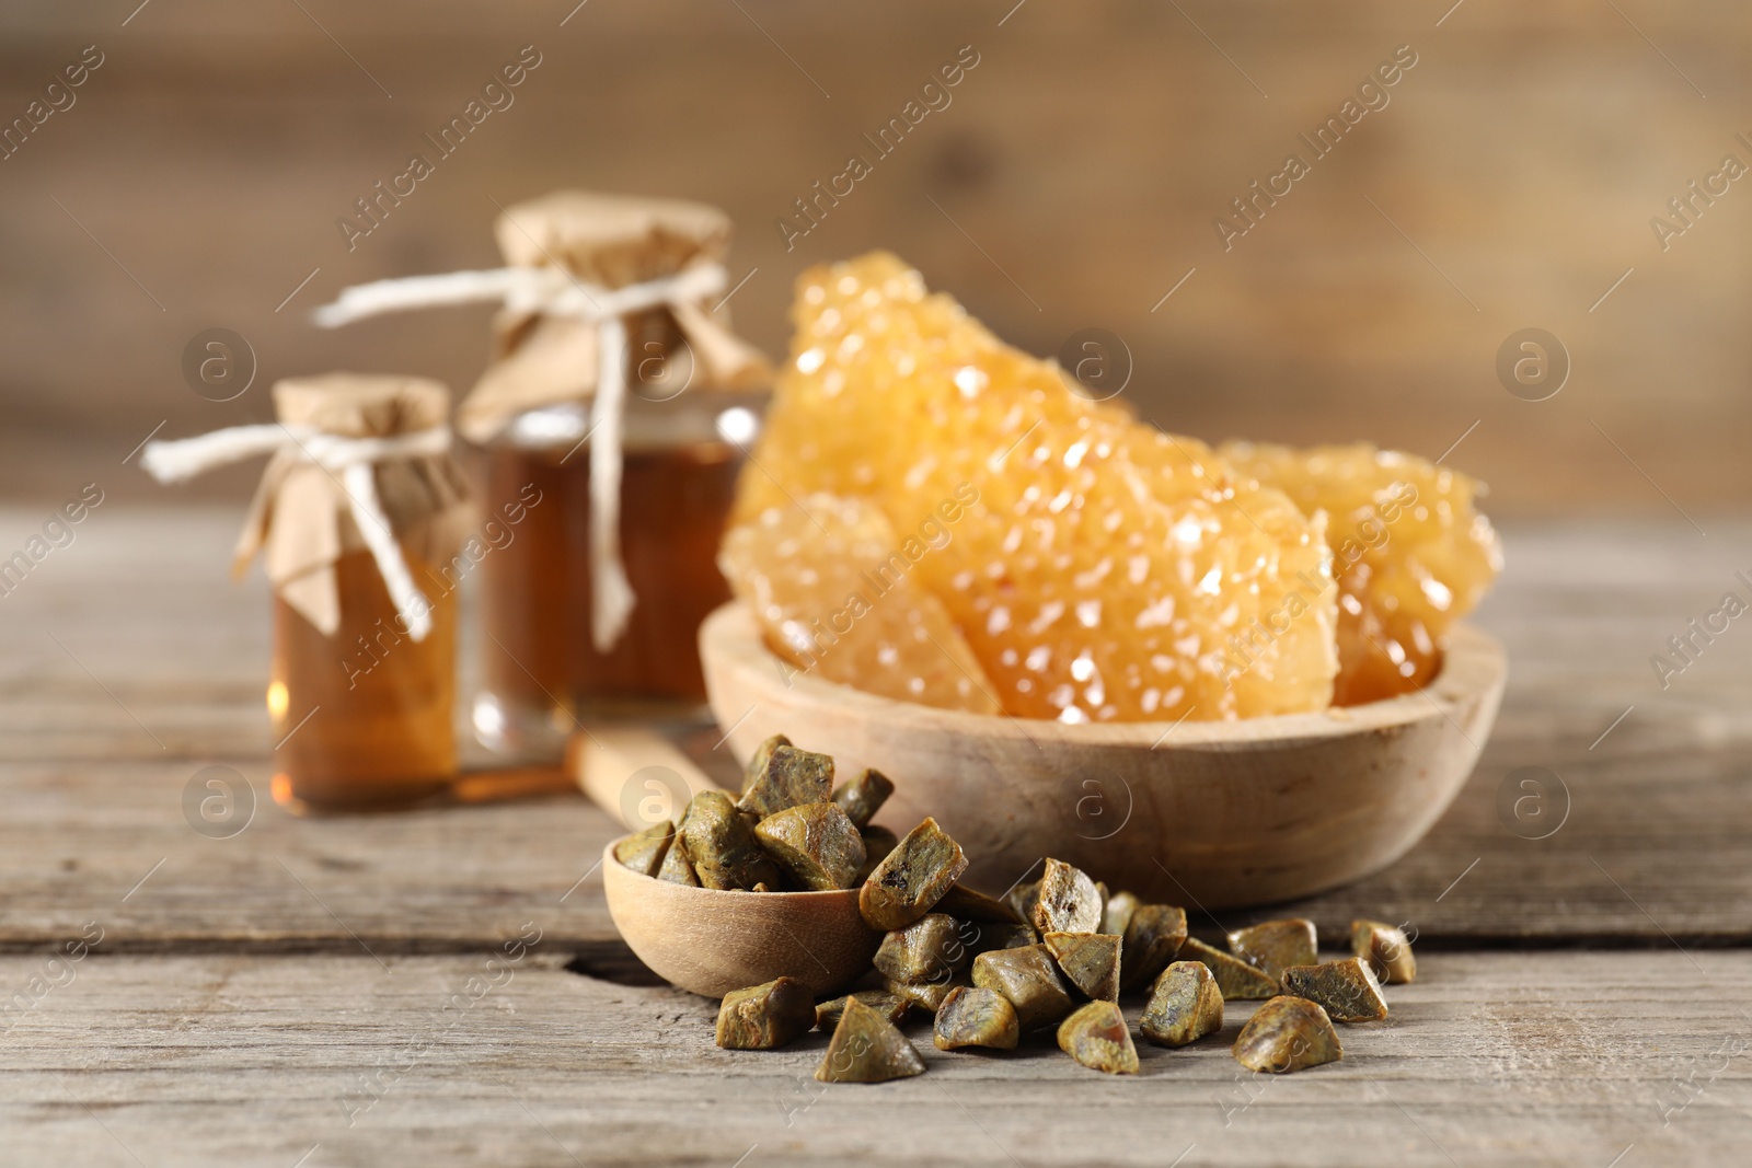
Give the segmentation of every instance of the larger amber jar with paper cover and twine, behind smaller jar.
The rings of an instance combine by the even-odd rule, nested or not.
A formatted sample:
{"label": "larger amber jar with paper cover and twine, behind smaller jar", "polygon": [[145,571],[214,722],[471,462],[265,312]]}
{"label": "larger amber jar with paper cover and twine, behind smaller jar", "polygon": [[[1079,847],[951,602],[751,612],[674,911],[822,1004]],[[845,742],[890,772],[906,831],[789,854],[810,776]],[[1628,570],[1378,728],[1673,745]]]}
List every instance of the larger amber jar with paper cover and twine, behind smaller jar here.
{"label": "larger amber jar with paper cover and twine, behind smaller jar", "polygon": [[590,720],[689,720],[697,632],[771,364],[729,326],[729,217],[701,203],[557,191],[494,224],[506,266],[380,280],[321,324],[496,299],[494,359],[457,410],[484,510],[475,735],[555,760]]}

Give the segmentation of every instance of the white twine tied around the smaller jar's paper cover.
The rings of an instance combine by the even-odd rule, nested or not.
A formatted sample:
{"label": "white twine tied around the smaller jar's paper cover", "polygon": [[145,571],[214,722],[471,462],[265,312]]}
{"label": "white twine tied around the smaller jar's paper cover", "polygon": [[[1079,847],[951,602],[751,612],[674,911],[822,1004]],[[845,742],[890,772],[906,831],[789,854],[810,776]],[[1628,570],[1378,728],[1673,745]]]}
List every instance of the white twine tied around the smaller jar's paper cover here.
{"label": "white twine tied around the smaller jar's paper cover", "polygon": [[[272,454],[287,462],[305,462],[340,476],[342,490],[359,538],[384,576],[408,636],[424,641],[431,632],[431,602],[413,583],[401,545],[377,494],[375,464],[394,459],[436,457],[450,450],[450,427],[384,438],[349,438],[315,426],[273,422],[233,426],[198,438],[149,441],[140,454],[145,471],[161,483],[194,478],[244,459]],[[331,632],[324,629],[324,632]]]}

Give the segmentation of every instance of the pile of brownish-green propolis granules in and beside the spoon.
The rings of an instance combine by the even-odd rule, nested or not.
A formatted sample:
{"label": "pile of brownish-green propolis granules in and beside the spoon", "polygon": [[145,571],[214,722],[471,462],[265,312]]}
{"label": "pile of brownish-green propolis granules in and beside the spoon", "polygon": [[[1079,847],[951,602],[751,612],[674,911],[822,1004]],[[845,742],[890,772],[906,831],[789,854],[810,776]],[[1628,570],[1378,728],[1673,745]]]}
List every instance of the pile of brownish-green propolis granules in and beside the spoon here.
{"label": "pile of brownish-green propolis granules in and beside the spoon", "polygon": [[929,1012],[939,1051],[1007,1051],[1028,1031],[1056,1028],[1060,1049],[1083,1066],[1135,1073],[1120,996],[1144,993],[1137,1030],[1163,1047],[1218,1033],[1228,1000],[1261,1000],[1233,1054],[1251,1070],[1282,1073],[1342,1058],[1333,1023],[1384,1019],[1381,984],[1417,974],[1405,933],[1391,925],[1353,921],[1353,954],[1333,961],[1319,961],[1307,919],[1237,930],[1223,951],[1186,935],[1183,909],[1109,891],[1053,858],[1004,898],[983,895],[958,883],[967,856],[936,820],[887,853],[871,851],[881,828],[869,820],[894,785],[864,770],[829,790],[832,774],[827,755],[769,739],[738,802],[696,795],[680,827],[657,825],[615,851],[646,876],[669,870],[666,879],[710,888],[858,888],[865,925],[885,933],[865,989],[818,1003],[802,982],[780,977],[725,995],[720,1047],[774,1049],[820,1026],[832,1038],[816,1079],[885,1082],[923,1073],[901,1023]]}

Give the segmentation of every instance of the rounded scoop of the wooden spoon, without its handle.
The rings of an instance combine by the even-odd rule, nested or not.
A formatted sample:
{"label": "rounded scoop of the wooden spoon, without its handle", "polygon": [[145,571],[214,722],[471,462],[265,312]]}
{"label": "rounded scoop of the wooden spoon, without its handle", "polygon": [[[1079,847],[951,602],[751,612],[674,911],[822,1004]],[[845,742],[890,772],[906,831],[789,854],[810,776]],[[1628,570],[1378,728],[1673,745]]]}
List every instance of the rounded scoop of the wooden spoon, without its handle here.
{"label": "rounded scoop of the wooden spoon, without its handle", "polygon": [[[615,841],[620,842],[620,841]],[[881,933],[858,916],[858,890],[732,893],[639,876],[603,849],[603,893],[615,928],[664,981],[722,998],[795,977],[827,998],[869,972]]]}

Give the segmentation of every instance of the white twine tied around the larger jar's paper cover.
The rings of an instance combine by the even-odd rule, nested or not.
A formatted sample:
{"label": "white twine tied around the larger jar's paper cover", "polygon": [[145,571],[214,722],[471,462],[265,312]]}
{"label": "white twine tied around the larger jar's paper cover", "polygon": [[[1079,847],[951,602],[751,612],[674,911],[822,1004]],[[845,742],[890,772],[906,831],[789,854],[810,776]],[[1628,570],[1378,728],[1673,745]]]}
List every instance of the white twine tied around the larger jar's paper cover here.
{"label": "white twine tied around the larger jar's paper cover", "polygon": [[724,291],[724,264],[694,263],[675,275],[603,287],[562,268],[492,268],[447,275],[377,280],[343,289],[331,305],[315,310],[315,322],[336,327],[385,312],[499,301],[512,313],[573,317],[596,327],[597,369],[590,403],[596,436],[590,452],[590,641],[606,653],[620,639],[636,595],[620,559],[622,415],[627,398],[625,317],[652,308],[697,313],[703,301]]}

